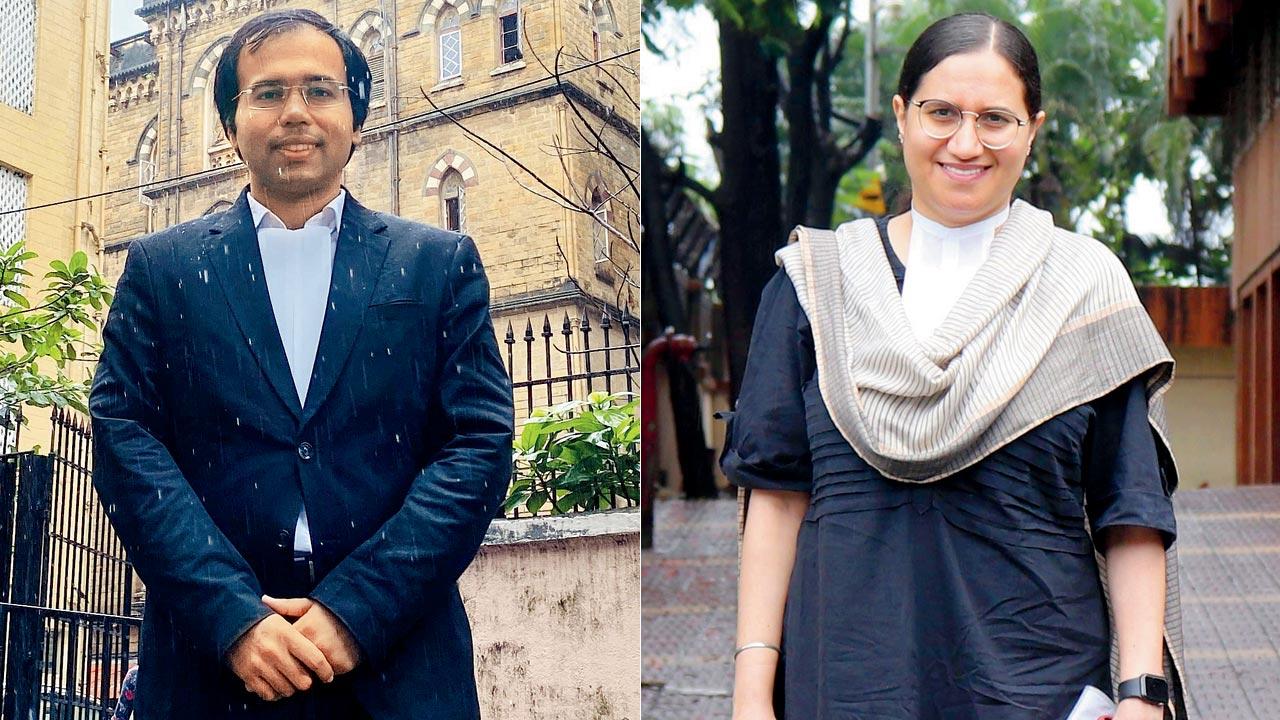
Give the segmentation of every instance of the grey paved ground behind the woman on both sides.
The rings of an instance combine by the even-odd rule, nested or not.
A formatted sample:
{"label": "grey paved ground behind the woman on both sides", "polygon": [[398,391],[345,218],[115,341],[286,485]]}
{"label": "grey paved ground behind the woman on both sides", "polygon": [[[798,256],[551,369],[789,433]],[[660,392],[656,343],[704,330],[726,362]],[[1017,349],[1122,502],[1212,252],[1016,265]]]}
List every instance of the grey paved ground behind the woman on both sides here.
{"label": "grey paved ground behind the woman on both sides", "polygon": [[[1192,720],[1280,717],[1280,486],[1176,496]],[[731,710],[737,505],[659,501],[644,551],[646,720]]]}

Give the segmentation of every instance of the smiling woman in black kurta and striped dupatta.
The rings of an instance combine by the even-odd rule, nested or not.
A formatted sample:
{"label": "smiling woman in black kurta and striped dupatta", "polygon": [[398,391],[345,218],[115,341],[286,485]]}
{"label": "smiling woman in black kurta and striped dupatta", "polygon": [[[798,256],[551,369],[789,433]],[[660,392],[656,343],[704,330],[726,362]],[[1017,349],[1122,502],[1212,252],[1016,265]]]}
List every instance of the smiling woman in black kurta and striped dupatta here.
{"label": "smiling woman in black kurta and striped dupatta", "polygon": [[1056,720],[1116,682],[1115,720],[1164,717],[1172,360],[1114,255],[1011,204],[1034,49],[945,18],[893,111],[910,214],[799,229],[756,318],[735,717]]}

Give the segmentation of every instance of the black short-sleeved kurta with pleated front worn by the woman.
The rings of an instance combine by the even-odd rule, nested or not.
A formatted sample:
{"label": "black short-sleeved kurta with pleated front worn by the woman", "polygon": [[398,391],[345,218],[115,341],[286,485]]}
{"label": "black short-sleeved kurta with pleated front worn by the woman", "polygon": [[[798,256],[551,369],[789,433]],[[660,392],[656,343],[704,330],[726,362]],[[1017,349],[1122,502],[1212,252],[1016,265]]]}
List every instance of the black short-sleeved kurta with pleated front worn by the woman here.
{"label": "black short-sleeved kurta with pleated front worn by the woman", "polygon": [[1175,532],[1140,379],[946,480],[886,479],[832,424],[782,270],[722,464],[740,487],[812,497],[785,615],[786,717],[1066,717],[1084,685],[1111,687],[1085,507],[1094,533]]}

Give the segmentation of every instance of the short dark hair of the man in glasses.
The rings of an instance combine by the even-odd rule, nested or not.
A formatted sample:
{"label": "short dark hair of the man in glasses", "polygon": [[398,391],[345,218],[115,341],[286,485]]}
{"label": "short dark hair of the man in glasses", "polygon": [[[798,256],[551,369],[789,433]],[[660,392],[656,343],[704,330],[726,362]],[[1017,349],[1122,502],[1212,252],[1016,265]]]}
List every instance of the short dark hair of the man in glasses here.
{"label": "short dark hair of the man in glasses", "polygon": [[[227,42],[223,56],[218,60],[218,70],[214,74],[214,104],[218,105],[218,117],[221,119],[223,132],[228,137],[236,132],[236,105],[241,92],[238,74],[241,50],[247,49],[253,53],[271,37],[300,26],[311,26],[338,44],[343,64],[347,67],[344,85],[351,88],[347,91],[347,97],[351,100],[352,123],[355,129],[365,126],[365,118],[369,117],[369,92],[372,87],[372,78],[369,74],[369,60],[365,59],[360,47],[338,26],[319,13],[292,9],[271,10],[241,26]],[[356,151],[355,146],[351,151]]]}

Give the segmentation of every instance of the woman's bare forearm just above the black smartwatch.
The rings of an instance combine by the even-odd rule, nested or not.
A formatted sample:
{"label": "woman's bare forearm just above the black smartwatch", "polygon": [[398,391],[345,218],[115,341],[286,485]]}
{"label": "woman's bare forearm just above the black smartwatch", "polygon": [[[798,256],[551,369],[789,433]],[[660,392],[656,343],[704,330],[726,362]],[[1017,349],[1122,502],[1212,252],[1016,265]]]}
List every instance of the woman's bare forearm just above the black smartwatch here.
{"label": "woman's bare forearm just above the black smartwatch", "polygon": [[1149,528],[1106,530],[1107,589],[1120,644],[1120,676],[1164,675],[1165,546]]}

